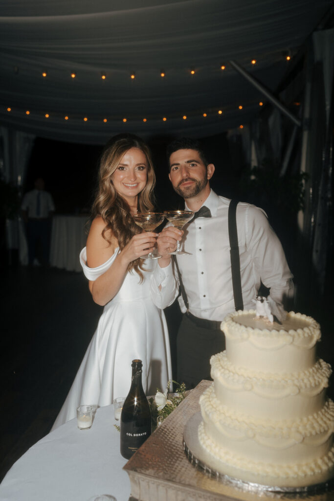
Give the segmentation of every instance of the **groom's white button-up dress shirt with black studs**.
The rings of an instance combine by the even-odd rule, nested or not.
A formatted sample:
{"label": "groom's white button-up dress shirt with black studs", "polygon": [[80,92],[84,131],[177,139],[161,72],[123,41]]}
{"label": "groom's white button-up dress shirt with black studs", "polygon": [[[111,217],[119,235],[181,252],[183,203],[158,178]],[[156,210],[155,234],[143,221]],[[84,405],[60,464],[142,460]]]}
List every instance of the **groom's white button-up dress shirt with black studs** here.
{"label": "groom's white button-up dress shirt with black studs", "polygon": [[[177,262],[189,311],[199,318],[220,321],[234,311],[228,237],[229,202],[228,198],[211,190],[203,204],[210,209],[211,218],[198,217],[183,228],[181,246],[184,245],[184,250],[190,254],[178,256]],[[265,212],[255,205],[239,202],[236,222],[244,309],[255,308],[253,300],[261,281],[270,288],[270,297],[281,305],[284,296],[293,295],[293,276]],[[173,267],[173,264],[166,268],[157,266],[153,274],[152,297],[158,308],[166,308],[178,296],[177,272]],[[181,296],[179,303],[185,313]]]}

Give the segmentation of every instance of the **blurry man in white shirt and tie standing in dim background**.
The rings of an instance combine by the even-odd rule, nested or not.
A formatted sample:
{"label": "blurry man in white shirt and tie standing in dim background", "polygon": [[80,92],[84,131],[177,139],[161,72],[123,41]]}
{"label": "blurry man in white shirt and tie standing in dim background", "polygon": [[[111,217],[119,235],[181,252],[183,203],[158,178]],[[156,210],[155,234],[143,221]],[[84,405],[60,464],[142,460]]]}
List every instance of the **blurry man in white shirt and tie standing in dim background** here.
{"label": "blurry man in white shirt and tie standing in dim background", "polygon": [[[28,191],[22,200],[22,217],[27,225],[28,264],[33,266],[37,261],[37,247],[40,244],[40,259],[43,265],[49,264],[50,254],[50,217],[55,211],[51,194],[45,191],[44,179],[35,179],[35,189]],[[36,261],[37,260],[37,261]]]}

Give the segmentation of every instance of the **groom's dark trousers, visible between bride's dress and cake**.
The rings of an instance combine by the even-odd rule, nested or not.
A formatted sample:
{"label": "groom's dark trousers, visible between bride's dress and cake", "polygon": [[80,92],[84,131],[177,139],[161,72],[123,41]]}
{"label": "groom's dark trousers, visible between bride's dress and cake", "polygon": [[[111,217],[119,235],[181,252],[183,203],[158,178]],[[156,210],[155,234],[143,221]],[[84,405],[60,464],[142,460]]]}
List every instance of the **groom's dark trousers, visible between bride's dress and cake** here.
{"label": "groom's dark trousers, visible between bride's dress and cake", "polygon": [[177,382],[194,388],[210,376],[210,357],[225,350],[225,335],[220,329],[198,327],[186,315],[182,316],[177,333]]}

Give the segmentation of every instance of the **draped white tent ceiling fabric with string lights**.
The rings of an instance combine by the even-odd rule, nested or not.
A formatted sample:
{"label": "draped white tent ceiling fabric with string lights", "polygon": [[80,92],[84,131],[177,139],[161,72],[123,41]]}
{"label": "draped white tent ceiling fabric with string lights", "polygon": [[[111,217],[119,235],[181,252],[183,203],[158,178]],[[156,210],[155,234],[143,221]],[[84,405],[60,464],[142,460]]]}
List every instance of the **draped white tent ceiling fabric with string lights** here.
{"label": "draped white tent ceiling fabric with string lights", "polygon": [[123,131],[207,136],[237,127],[256,117],[264,96],[228,62],[274,92],[290,64],[284,51],[293,56],[331,6],[0,0],[0,124],[91,144]]}

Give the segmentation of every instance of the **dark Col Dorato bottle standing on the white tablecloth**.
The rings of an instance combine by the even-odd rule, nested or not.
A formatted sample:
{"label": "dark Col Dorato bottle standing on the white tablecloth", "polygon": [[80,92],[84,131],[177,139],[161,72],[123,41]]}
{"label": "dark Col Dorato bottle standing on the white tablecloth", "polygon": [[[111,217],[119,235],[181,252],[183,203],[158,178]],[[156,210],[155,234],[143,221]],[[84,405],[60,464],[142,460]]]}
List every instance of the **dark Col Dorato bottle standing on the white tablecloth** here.
{"label": "dark Col Dorato bottle standing on the white tablecloth", "polygon": [[121,454],[126,459],[151,434],[151,409],[142,386],[142,361],[133,360],[132,383],[121,413]]}

